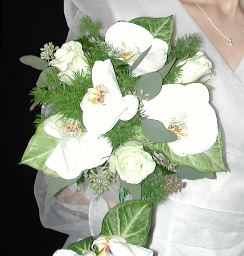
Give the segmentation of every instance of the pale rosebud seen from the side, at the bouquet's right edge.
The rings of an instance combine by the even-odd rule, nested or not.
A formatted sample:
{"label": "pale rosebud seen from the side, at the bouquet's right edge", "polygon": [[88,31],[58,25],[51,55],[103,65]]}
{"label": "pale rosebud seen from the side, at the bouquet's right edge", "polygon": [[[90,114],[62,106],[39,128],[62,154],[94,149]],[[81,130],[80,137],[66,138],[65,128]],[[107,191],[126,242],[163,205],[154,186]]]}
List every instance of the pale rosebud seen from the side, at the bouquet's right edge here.
{"label": "pale rosebud seen from the side, at the bouquet's right edge", "polygon": [[192,58],[182,60],[177,66],[182,66],[180,68],[182,76],[176,81],[179,84],[191,83],[202,76],[212,74],[212,63],[203,52],[197,52]]}

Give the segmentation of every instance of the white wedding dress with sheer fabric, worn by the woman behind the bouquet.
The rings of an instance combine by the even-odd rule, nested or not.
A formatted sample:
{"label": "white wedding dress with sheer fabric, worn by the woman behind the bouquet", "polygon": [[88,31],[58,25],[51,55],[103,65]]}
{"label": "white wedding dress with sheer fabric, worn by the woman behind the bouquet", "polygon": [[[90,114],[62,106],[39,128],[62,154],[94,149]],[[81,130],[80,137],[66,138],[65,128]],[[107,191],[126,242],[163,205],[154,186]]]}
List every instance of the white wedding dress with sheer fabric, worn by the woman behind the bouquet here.
{"label": "white wedding dress with sheer fabric, worn by the woman behind the bouquet", "polygon": [[[64,10],[70,27],[67,40],[76,38],[77,22],[85,14],[100,19],[103,32],[117,21],[173,14],[175,38],[193,32],[202,36],[201,50],[213,63],[214,74],[208,85],[222,128],[228,172],[217,173],[213,180],[187,180],[182,191],[154,207],[148,246],[155,256],[243,256],[244,58],[233,72],[179,0],[65,0]],[[72,187],[48,198],[47,181],[44,174],[37,175],[35,194],[42,224],[70,234],[67,245],[90,234],[98,235],[108,210],[105,200],[117,202],[117,188],[104,196],[93,196],[86,184],[82,193],[87,200]]]}

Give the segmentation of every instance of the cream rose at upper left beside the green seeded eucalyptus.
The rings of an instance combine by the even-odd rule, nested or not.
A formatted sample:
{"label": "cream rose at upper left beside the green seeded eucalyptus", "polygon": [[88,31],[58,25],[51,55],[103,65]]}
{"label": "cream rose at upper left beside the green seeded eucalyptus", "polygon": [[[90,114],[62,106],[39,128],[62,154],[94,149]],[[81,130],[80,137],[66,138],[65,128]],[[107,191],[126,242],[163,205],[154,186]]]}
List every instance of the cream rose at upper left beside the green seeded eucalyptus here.
{"label": "cream rose at upper left beside the green seeded eucalyptus", "polygon": [[74,78],[73,73],[82,71],[87,72],[87,64],[85,62],[82,44],[75,41],[70,41],[61,46],[54,53],[54,59],[49,62],[50,66],[55,66],[61,72],[59,73],[60,80],[67,84]]}

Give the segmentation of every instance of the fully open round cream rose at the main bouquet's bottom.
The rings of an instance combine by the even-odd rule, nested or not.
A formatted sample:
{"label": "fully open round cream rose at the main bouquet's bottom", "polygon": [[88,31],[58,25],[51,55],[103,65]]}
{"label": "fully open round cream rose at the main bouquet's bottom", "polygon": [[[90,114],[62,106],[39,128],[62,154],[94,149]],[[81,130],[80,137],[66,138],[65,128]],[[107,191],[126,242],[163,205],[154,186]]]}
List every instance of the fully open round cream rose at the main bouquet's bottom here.
{"label": "fully open round cream rose at the main bouquet's bottom", "polygon": [[154,171],[156,163],[141,142],[129,141],[110,156],[109,166],[111,171],[118,172],[121,180],[138,184]]}

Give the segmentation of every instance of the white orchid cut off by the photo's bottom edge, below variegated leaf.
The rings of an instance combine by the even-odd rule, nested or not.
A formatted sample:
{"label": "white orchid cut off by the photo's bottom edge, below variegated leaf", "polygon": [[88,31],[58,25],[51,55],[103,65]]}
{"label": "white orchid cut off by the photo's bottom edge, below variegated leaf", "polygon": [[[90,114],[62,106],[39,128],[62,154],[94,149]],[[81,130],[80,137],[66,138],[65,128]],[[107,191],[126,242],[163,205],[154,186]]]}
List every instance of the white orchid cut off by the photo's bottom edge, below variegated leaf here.
{"label": "white orchid cut off by the photo's bottom edge, below variegated leaf", "polygon": [[98,256],[152,256],[153,251],[126,243],[122,237],[117,235],[101,235],[93,241],[92,249],[98,247]]}

